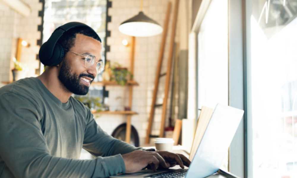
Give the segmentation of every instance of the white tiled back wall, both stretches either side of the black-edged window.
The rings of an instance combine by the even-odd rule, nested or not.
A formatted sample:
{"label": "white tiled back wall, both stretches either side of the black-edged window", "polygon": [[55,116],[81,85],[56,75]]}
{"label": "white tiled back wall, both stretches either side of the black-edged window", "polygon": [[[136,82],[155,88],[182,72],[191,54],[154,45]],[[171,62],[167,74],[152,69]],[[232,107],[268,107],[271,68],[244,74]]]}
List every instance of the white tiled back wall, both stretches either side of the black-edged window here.
{"label": "white tiled back wall, both stretches either side of the black-edged window", "polygon": [[[167,69],[174,1],[143,1],[143,12],[156,20],[161,26],[164,26],[168,1],[172,1],[172,6],[161,73]],[[38,68],[36,54],[38,54],[39,47],[36,42],[37,39],[40,39],[40,32],[37,31],[37,26],[41,24],[38,11],[42,9],[42,4],[38,0],[24,0],[24,2],[29,4],[31,8],[29,17],[23,17],[0,2],[0,82],[12,80],[12,58],[15,56],[18,37],[30,43],[30,47],[23,47],[21,53],[21,62],[28,66],[27,77],[34,76],[35,69]],[[107,53],[107,59],[112,62],[118,62],[124,67],[129,67],[130,65],[130,47],[124,47],[121,42],[123,39],[131,42],[131,37],[121,34],[118,27],[124,20],[138,14],[140,11],[140,2],[140,0],[112,0],[112,7],[109,9],[109,15],[112,17],[112,20],[108,23],[108,30],[111,31],[111,36],[107,39],[107,44],[110,45],[110,52]],[[178,30],[176,33],[178,33]],[[132,110],[139,114],[132,116],[132,125],[138,131],[140,145],[144,143],[148,126],[161,39],[162,35],[160,34],[152,37],[136,37],[135,41],[134,80],[139,83],[139,86],[133,88]],[[160,80],[157,103],[162,103],[163,101],[164,83],[165,77]],[[108,102],[111,108],[119,107],[122,103],[124,103],[124,106],[128,105],[128,88],[109,86],[106,89],[109,90]],[[169,117],[170,96],[171,93],[169,93],[168,98],[166,123],[168,123]],[[159,107],[155,110],[152,134],[159,134],[161,114],[162,108]],[[126,117],[122,115],[101,115],[96,120],[103,130],[111,134],[118,125],[126,121]]]}

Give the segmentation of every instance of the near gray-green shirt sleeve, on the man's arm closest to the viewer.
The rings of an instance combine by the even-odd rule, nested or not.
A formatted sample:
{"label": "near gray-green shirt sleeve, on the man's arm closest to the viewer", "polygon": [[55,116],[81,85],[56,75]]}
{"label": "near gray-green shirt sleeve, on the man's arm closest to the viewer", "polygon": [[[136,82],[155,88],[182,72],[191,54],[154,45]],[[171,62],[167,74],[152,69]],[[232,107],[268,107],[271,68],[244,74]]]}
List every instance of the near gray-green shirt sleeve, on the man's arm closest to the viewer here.
{"label": "near gray-green shirt sleeve, on the man's arm closest to the viewer", "polygon": [[50,155],[40,120],[42,111],[32,98],[0,95],[0,161],[15,177],[109,177],[125,172],[120,154],[93,160]]}

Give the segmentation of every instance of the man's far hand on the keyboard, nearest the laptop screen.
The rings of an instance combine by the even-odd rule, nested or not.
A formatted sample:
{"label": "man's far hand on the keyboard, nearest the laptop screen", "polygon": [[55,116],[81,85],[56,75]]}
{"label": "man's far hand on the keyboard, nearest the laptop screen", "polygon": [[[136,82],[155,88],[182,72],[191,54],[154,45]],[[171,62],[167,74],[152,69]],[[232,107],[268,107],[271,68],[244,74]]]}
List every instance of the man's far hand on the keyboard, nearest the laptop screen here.
{"label": "man's far hand on the keyboard, nearest the laptop screen", "polygon": [[[167,164],[168,163],[170,164],[170,167],[173,167],[176,164],[178,164],[181,168],[184,168],[184,166],[187,166],[187,167],[190,166],[191,161],[182,154],[175,154],[167,151],[156,151],[156,152],[159,153],[159,155],[161,155],[162,158],[164,158]],[[160,165],[160,167],[161,166],[162,165]],[[163,168],[168,168],[168,167],[163,167]]]}

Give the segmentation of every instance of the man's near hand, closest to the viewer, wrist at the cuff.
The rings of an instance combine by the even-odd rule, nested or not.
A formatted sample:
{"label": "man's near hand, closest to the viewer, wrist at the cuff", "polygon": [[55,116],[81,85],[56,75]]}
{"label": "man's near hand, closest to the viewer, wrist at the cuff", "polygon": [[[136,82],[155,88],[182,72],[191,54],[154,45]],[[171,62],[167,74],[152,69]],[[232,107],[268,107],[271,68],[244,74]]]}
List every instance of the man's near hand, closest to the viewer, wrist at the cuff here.
{"label": "man's near hand, closest to the viewer, wrist at the cuff", "polygon": [[162,166],[162,168],[169,168],[170,164],[165,162],[158,152],[150,152],[143,150],[136,150],[122,155],[126,167],[125,173],[133,173],[140,171],[147,165],[151,166],[154,171]]}

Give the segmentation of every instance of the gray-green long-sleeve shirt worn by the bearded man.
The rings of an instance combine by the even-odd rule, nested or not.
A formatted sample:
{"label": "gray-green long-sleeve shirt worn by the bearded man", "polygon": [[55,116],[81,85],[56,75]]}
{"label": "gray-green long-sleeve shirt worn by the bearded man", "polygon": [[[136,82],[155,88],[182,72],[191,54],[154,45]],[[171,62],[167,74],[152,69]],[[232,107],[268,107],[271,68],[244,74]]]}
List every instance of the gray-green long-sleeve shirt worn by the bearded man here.
{"label": "gray-green long-sleeve shirt worn by the bearded man", "polygon": [[[0,178],[108,177],[137,149],[106,134],[90,110],[62,103],[34,77],[0,88]],[[78,160],[81,149],[98,156]]]}

